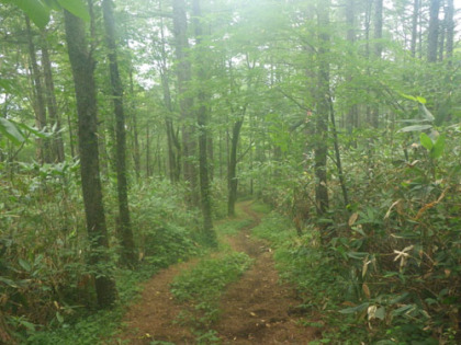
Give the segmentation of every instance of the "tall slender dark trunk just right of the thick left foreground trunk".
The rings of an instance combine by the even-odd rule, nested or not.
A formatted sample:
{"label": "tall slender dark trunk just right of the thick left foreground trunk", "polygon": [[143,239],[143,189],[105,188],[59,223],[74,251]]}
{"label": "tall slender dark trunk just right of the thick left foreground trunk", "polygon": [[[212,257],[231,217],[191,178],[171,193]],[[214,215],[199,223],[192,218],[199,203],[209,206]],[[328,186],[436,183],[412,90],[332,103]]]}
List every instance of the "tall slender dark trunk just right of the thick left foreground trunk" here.
{"label": "tall slender dark trunk just right of the thick left foreground trunk", "polygon": [[137,254],[130,220],[128,186],[126,179],[126,130],[125,113],[123,108],[123,87],[119,73],[119,60],[115,44],[115,21],[112,0],[102,1],[102,11],[104,18],[105,39],[109,48],[108,58],[115,115],[115,170],[117,179],[120,238],[122,241],[121,261],[128,267],[135,267],[137,264]]}

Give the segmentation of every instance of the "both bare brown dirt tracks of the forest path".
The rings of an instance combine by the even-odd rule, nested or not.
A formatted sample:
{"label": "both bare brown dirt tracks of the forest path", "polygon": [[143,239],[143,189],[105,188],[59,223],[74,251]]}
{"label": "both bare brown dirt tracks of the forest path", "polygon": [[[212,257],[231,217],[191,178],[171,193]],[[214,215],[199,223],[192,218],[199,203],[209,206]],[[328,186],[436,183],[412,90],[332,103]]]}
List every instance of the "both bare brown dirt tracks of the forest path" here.
{"label": "both bare brown dirt tracks of the forest path", "polygon": [[[220,318],[212,324],[220,343],[308,344],[321,338],[318,329],[303,325],[301,317],[294,312],[301,301],[296,299],[293,287],[279,281],[270,246],[250,234],[251,229],[259,225],[261,215],[251,209],[251,202],[237,206],[252,222],[238,234],[225,237],[224,241],[254,261],[221,297]],[[124,317],[120,338],[127,344],[201,343],[190,327],[176,322],[187,306],[181,306],[170,292],[173,278],[198,262],[192,260],[170,266],[145,283],[140,299]]]}

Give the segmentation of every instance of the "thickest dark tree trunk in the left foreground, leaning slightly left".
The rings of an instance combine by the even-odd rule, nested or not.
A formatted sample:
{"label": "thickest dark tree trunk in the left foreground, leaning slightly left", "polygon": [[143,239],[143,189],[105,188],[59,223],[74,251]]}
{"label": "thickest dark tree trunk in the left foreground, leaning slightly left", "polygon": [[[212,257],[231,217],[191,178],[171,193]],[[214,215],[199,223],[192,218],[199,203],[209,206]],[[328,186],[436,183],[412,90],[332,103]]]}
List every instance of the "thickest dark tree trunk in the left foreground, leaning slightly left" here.
{"label": "thickest dark tree trunk in the left foreground, leaning slightly left", "polygon": [[94,61],[88,51],[83,22],[65,11],[65,26],[77,99],[81,187],[91,245],[89,263],[92,267],[90,271],[95,269],[98,272],[94,277],[98,303],[101,308],[105,308],[114,303],[116,289],[110,272],[101,272],[98,268],[104,267],[104,269],[108,269],[110,260],[99,172]]}

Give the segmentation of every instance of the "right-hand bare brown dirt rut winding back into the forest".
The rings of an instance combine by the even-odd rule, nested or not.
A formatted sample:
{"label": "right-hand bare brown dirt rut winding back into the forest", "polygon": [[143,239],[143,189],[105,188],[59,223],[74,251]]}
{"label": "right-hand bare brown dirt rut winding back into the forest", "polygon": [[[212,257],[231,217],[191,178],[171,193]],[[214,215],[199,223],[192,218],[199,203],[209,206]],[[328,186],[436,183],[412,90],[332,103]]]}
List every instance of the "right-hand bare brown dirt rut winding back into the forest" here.
{"label": "right-hand bare brown dirt rut winding back into the forest", "polygon": [[255,222],[229,242],[235,251],[252,256],[255,264],[223,295],[222,314],[213,329],[225,344],[308,344],[319,334],[289,315],[300,301],[293,288],[279,284],[270,249],[250,238],[259,215],[250,209],[250,204],[241,206]]}

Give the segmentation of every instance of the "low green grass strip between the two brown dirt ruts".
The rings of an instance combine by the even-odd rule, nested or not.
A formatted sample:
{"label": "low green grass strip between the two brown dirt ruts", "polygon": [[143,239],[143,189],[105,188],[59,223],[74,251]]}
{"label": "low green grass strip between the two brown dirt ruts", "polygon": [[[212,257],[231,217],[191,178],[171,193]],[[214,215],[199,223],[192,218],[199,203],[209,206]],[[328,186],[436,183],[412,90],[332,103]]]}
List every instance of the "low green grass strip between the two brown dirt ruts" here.
{"label": "low green grass strip between the two brown dirt ruts", "polygon": [[199,337],[213,337],[210,326],[218,319],[221,295],[250,264],[248,255],[234,252],[203,260],[193,269],[182,272],[171,284],[175,298],[188,306],[177,321],[189,325]]}

